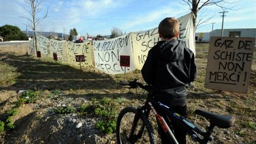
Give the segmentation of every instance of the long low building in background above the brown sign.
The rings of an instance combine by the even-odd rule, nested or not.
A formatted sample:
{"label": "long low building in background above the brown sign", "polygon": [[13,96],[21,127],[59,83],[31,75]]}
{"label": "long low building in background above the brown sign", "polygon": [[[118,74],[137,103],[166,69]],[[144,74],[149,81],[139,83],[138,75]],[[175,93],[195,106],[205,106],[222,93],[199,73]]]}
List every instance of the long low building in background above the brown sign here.
{"label": "long low building in background above the brown sign", "polygon": [[[209,42],[210,37],[220,37],[221,29],[210,31],[209,33],[196,33],[196,42]],[[254,37],[256,38],[256,28],[231,28],[223,30],[223,37]]]}

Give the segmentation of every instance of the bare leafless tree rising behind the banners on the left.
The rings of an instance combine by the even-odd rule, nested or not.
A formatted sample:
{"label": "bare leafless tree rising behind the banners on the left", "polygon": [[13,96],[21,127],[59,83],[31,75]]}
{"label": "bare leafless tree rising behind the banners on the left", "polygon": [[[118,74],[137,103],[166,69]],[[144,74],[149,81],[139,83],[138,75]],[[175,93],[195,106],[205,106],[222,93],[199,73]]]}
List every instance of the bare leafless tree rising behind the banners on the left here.
{"label": "bare leafless tree rising behind the banners on the left", "polygon": [[37,18],[36,15],[41,11],[40,5],[41,5],[41,2],[43,2],[43,0],[24,0],[24,1],[30,6],[29,9],[25,8],[25,10],[30,14],[30,16],[29,17],[21,16],[21,17],[28,20],[28,27],[30,27],[34,31],[35,46],[37,51],[36,27],[41,20],[47,17],[49,8],[47,8],[46,14],[43,17]]}

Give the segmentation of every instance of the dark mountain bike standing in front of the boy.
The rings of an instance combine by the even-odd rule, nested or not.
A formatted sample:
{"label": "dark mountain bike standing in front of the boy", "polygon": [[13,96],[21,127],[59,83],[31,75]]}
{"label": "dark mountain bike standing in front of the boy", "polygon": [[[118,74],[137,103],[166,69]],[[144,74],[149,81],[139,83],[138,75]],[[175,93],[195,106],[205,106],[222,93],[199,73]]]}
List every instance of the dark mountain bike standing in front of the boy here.
{"label": "dark mountain bike standing in front of the boy", "polygon": [[[151,123],[148,120],[149,112],[152,110],[156,117],[156,121],[161,125],[159,129],[163,129],[165,134],[168,136],[169,142],[178,143],[175,139],[174,133],[171,130],[171,123],[177,123],[184,129],[191,138],[199,143],[207,143],[213,140],[212,132],[215,126],[223,129],[231,127],[235,123],[235,117],[228,115],[221,115],[216,113],[210,113],[204,110],[195,110],[194,113],[205,117],[209,122],[210,126],[206,126],[206,131],[200,129],[199,126],[192,123],[185,117],[174,113],[171,109],[158,101],[153,99],[152,89],[149,85],[143,85],[140,82],[134,81],[120,81],[121,86],[128,85],[129,88],[140,87],[148,91],[146,102],[142,106],[125,107],[120,111],[117,117],[117,143],[156,143],[156,136],[153,132]],[[157,108],[155,108],[157,107]],[[167,113],[167,121],[158,114],[158,110]],[[127,115],[127,116],[126,116]],[[132,124],[127,124],[129,121]]]}

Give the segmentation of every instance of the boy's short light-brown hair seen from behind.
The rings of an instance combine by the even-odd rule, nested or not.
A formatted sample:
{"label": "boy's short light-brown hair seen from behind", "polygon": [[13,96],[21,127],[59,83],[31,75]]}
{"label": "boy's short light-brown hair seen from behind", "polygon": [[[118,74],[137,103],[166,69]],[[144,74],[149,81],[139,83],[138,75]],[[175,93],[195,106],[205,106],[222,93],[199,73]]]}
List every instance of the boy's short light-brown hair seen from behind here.
{"label": "boy's short light-brown hair seen from behind", "polygon": [[158,32],[165,39],[174,38],[175,35],[180,31],[180,23],[174,17],[165,18],[158,25]]}

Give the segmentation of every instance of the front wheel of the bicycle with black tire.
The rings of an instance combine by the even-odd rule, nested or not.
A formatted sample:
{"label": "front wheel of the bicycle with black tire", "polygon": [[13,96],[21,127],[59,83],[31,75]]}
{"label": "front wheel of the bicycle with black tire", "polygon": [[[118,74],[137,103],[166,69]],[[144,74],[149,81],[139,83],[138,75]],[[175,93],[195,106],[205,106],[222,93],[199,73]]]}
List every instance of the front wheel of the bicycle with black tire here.
{"label": "front wheel of the bicycle with black tire", "polygon": [[[127,114],[127,117],[126,117],[126,114]],[[140,129],[141,126],[143,126],[144,124],[145,128],[143,129],[142,136],[140,137],[140,139],[137,139],[137,142],[129,142],[127,137],[130,134],[130,131],[131,131],[130,129],[132,128],[135,114],[137,114],[137,109],[135,107],[126,107],[123,110],[121,110],[119,116],[117,117],[117,131],[116,131],[117,143],[119,144],[124,144],[124,143],[155,144],[156,143],[155,133],[153,132],[151,123],[149,123],[149,120],[143,113],[140,114],[139,122],[137,123],[135,128],[137,131],[137,129]]]}

